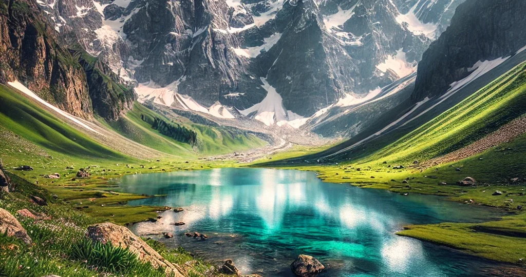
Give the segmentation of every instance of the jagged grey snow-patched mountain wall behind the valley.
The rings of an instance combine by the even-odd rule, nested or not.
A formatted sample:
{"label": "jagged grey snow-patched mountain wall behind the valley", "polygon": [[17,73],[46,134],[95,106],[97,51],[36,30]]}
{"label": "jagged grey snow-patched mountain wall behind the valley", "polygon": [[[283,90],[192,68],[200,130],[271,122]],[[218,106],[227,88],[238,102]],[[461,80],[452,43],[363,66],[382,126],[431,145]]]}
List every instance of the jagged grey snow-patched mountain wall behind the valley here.
{"label": "jagged grey snow-patched mountain wall behind the valley", "polygon": [[412,74],[463,2],[44,1],[59,35],[107,61],[141,101],[294,127]]}

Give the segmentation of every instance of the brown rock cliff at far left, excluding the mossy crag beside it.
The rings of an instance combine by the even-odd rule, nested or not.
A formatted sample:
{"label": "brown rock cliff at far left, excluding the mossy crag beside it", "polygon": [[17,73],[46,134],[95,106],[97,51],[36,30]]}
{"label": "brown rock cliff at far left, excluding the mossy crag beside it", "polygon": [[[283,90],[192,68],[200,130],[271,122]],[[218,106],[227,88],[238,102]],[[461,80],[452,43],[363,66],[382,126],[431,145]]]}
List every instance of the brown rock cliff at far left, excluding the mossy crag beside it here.
{"label": "brown rock cliff at far left, excluding the mossy crag beside it", "polygon": [[13,0],[1,5],[0,81],[18,79],[60,109],[88,118],[92,108],[84,71],[58,46],[36,5]]}

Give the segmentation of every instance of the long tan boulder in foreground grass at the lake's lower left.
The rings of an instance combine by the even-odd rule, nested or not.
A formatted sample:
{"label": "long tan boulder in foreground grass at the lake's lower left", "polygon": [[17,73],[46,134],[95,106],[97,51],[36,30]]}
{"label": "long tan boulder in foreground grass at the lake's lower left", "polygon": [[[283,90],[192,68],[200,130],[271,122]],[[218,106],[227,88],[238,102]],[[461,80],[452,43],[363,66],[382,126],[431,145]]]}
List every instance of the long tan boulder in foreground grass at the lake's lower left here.
{"label": "long tan boulder in foreground grass at the lake's lower left", "polygon": [[93,242],[111,242],[121,248],[127,248],[137,254],[139,260],[149,262],[154,268],[161,267],[165,269],[167,274],[183,277],[172,263],[166,261],[157,251],[124,226],[111,222],[91,225],[88,227],[88,238],[92,239]]}

